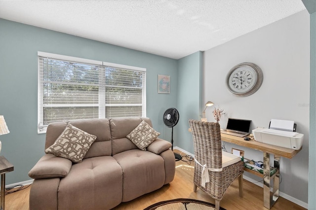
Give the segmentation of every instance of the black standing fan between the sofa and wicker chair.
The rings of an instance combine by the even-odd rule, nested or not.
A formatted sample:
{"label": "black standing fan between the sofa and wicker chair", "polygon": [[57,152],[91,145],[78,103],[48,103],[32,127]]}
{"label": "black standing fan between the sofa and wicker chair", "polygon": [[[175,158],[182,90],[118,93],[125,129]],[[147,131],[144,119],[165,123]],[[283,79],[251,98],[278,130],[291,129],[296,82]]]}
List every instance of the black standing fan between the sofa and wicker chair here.
{"label": "black standing fan between the sofa and wicker chair", "polygon": [[[173,151],[173,127],[178,123],[179,121],[179,112],[175,108],[168,108],[164,114],[163,114],[163,122],[168,128],[172,128],[171,131],[171,150]],[[179,161],[182,159],[182,156],[178,153],[174,152],[174,156],[176,158],[176,161]]]}

